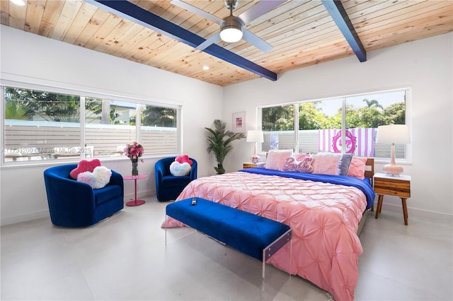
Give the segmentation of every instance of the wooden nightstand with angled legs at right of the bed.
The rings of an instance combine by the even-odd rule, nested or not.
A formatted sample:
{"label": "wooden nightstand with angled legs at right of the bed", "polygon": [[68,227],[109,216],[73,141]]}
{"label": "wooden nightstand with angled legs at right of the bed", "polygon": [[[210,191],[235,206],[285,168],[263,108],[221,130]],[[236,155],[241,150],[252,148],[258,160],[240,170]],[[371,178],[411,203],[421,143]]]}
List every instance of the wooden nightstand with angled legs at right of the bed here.
{"label": "wooden nightstand with angled legs at right of the bed", "polygon": [[383,173],[376,173],[374,175],[374,192],[379,196],[377,199],[376,216],[378,218],[382,209],[382,200],[384,195],[399,196],[401,204],[403,205],[404,225],[408,225],[408,208],[406,206],[406,199],[411,197],[411,176],[400,175],[393,177]]}

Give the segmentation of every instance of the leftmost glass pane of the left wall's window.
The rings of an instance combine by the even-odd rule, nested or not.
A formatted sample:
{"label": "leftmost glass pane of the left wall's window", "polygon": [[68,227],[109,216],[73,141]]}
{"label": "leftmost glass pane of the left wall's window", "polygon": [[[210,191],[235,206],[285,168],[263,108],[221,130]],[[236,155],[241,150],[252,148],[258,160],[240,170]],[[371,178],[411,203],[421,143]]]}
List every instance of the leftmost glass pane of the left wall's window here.
{"label": "leftmost glass pane of the left wall's window", "polygon": [[4,88],[4,161],[80,157],[80,98]]}

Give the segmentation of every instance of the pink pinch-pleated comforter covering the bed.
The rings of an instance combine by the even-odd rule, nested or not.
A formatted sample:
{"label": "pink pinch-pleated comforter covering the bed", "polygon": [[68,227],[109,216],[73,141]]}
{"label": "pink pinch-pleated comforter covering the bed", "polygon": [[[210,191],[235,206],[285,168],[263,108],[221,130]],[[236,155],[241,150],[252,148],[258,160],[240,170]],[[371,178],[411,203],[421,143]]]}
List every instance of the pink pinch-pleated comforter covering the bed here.
{"label": "pink pinch-pleated comforter covering the bed", "polygon": [[[197,196],[278,220],[292,228],[289,244],[267,262],[297,274],[332,293],[353,300],[362,245],[357,226],[365,211],[365,194],[355,187],[285,177],[230,172],[190,182],[178,197]],[[181,227],[172,218],[162,227]]]}

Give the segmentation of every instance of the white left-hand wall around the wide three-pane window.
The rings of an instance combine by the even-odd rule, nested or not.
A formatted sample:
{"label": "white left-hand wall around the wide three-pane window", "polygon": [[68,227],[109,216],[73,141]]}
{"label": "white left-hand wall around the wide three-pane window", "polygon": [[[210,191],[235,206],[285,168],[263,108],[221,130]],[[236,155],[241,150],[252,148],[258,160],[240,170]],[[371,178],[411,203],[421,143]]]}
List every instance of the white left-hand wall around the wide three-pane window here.
{"label": "white left-hand wall around the wide three-pane window", "polygon": [[[214,174],[204,128],[222,118],[221,87],[3,25],[0,51],[2,82],[21,81],[182,104],[183,153],[197,160],[200,177]],[[145,163],[139,163],[139,172],[149,176],[137,181],[139,196],[155,194],[157,159],[145,158]],[[130,174],[127,158],[102,162],[122,175]],[[42,172],[49,166],[1,167],[1,225],[48,216]],[[133,182],[125,182],[125,199],[131,199],[133,191]]]}

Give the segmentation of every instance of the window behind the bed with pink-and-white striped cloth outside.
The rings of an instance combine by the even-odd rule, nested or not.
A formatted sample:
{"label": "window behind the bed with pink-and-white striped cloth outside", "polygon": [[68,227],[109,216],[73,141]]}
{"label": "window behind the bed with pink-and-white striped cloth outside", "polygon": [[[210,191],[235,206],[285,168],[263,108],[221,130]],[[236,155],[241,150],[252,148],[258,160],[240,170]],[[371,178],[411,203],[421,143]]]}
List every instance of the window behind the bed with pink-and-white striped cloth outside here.
{"label": "window behind the bed with pink-and-white striped cloth outside", "polygon": [[[391,146],[374,143],[377,126],[406,124],[408,92],[396,90],[260,108],[265,134],[262,149],[390,158]],[[407,151],[406,145],[396,145],[396,158],[407,160]]]}

